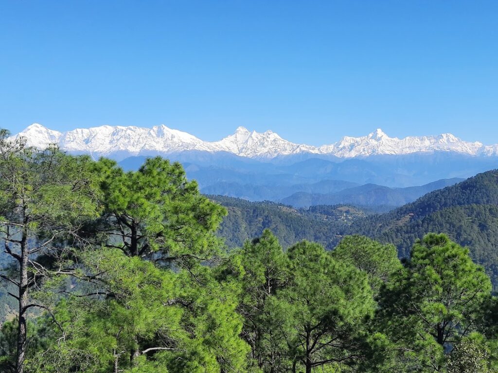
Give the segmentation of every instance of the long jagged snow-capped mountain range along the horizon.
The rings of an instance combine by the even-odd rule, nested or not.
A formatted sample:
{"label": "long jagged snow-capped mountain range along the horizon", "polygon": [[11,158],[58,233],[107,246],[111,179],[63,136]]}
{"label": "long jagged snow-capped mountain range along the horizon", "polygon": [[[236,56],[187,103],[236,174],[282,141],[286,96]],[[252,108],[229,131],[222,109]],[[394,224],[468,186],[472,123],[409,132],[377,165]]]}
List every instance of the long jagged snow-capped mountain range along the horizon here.
{"label": "long jagged snow-capped mountain range along the horizon", "polygon": [[136,155],[164,155],[189,150],[228,152],[241,157],[259,159],[299,153],[355,158],[439,151],[472,156],[498,156],[498,144],[483,145],[480,142],[467,142],[449,133],[398,139],[387,136],[380,129],[367,136],[345,136],[336,143],[320,147],[295,144],[282,139],[272,131],[250,132],[244,127],[239,127],[234,134],[214,142],[203,141],[187,132],[171,129],[165,125],[152,128],[101,126],[59,132],[34,123],[12,138],[19,136],[26,138],[28,145],[37,148],[57,144],[69,153],[85,153],[94,157],[108,156],[118,160]]}

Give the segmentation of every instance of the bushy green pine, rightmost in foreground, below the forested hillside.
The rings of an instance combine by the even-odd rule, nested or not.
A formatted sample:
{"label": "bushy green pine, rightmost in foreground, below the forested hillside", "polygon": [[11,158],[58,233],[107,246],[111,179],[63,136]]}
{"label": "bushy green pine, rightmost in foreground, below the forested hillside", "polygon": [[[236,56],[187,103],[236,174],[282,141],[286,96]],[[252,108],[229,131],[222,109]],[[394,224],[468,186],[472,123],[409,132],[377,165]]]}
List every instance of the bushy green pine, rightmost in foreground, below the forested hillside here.
{"label": "bushy green pine, rightmost in foreground, below the forested hillside", "polygon": [[444,352],[478,328],[490,293],[491,282],[468,249],[428,234],[382,290],[379,321],[403,361],[439,372]]}

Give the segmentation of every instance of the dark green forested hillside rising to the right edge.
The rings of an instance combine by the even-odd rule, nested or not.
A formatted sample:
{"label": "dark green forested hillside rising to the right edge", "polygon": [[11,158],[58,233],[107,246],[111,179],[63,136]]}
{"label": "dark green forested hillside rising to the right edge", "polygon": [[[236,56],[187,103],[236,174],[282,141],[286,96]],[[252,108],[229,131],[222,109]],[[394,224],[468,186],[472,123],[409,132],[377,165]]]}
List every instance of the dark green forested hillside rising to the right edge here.
{"label": "dark green forested hillside rising to the right edge", "polygon": [[415,240],[427,232],[447,233],[468,246],[474,260],[498,286],[498,171],[476,175],[393,211],[355,221],[344,234],[364,234],[393,243],[406,257]]}

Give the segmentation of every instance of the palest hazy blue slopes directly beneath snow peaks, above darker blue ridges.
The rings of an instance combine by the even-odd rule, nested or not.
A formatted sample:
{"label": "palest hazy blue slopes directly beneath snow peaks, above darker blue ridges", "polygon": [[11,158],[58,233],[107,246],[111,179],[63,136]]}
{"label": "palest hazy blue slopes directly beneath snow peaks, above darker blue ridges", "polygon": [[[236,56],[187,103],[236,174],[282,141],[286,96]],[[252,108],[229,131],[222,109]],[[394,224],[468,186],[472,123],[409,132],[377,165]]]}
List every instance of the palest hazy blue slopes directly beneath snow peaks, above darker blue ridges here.
{"label": "palest hazy blue slopes directly beneath snow peaks, above darker blue ridges", "polygon": [[[288,182],[311,184],[322,180],[412,187],[441,179],[466,179],[498,167],[497,157],[472,157],[449,152],[347,160],[300,155],[261,161],[208,152],[172,153],[167,158],[181,162],[189,177],[198,180],[201,187],[217,182],[282,185]],[[120,161],[120,165],[134,170],[144,159],[145,156],[129,157]]]}

